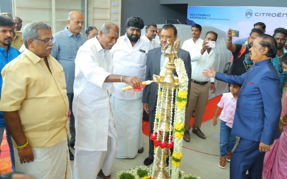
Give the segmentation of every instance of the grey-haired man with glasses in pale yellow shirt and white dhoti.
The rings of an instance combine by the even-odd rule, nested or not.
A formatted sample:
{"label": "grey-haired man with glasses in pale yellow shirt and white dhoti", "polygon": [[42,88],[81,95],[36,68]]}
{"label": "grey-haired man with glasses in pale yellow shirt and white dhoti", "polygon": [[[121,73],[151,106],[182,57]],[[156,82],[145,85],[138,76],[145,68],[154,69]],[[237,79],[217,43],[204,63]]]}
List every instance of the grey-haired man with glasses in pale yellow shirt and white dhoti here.
{"label": "grey-haired man with glasses in pale yellow shirt and white dhoti", "polygon": [[67,146],[67,98],[62,66],[53,58],[49,26],[23,29],[26,49],[2,70],[0,110],[13,138],[17,172],[41,179],[72,178]]}

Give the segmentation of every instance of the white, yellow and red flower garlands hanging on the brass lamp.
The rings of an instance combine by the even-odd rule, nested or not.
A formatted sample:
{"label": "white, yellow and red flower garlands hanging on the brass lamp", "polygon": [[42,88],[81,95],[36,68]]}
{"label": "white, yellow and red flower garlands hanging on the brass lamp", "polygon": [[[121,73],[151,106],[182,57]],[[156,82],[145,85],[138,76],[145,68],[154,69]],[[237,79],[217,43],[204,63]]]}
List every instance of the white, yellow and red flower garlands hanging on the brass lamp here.
{"label": "white, yellow and red flower garlands hanging on the brass lamp", "polygon": [[[181,158],[182,158],[182,142],[183,142],[182,139],[183,139],[183,134],[184,134],[185,107],[187,105],[187,90],[188,90],[188,87],[187,87],[188,77],[186,74],[183,60],[181,60],[181,58],[175,59],[174,64],[176,67],[176,72],[178,74],[179,83],[180,83],[180,85],[176,89],[176,103],[175,103],[175,114],[174,114],[175,119],[174,119],[174,132],[173,132],[174,136],[170,135],[167,142],[162,142],[159,140],[158,132],[160,131],[156,131],[156,129],[157,129],[158,122],[163,118],[163,116],[160,114],[160,111],[156,111],[156,120],[154,123],[155,131],[150,136],[150,139],[154,141],[155,155],[157,154],[158,147],[162,149],[166,147],[168,150],[174,147],[174,151],[172,154],[172,167],[170,168],[172,170],[171,179],[176,179],[179,176],[179,167],[181,165]],[[160,74],[163,74],[163,72],[161,71]],[[162,93],[162,90],[160,90],[160,87],[159,87],[158,94],[159,94],[158,98],[162,99],[163,93]],[[160,102],[160,100],[158,100],[158,102]],[[170,122],[171,122],[171,118],[172,116],[170,117]],[[154,159],[157,159],[157,157],[154,156]],[[155,165],[156,162],[157,161],[154,161],[153,170],[156,168],[156,165]]]}

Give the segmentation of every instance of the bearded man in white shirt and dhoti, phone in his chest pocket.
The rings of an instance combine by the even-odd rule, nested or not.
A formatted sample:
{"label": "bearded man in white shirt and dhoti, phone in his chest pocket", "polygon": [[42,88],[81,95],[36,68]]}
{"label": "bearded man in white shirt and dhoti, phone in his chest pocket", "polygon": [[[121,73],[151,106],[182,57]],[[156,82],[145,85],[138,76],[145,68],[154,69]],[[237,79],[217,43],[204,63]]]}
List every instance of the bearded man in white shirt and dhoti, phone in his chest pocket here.
{"label": "bearded man in white shirt and dhoti, phone in his chest pocket", "polygon": [[[146,58],[150,45],[140,39],[144,21],[137,16],[127,19],[127,33],[121,36],[110,53],[114,63],[114,74],[138,76],[144,81]],[[133,90],[123,92],[125,83],[115,84],[113,103],[117,120],[118,153],[116,158],[134,158],[144,152],[142,141],[142,91],[132,95]]]}

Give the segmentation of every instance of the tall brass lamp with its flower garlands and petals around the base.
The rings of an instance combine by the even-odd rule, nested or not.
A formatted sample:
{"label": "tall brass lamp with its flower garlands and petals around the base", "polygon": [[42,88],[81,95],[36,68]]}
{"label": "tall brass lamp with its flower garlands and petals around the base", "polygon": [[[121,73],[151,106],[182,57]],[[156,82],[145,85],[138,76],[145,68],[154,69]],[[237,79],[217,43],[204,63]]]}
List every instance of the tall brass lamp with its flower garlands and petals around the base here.
{"label": "tall brass lamp with its flower garlands and petals around the base", "polygon": [[[153,81],[158,83],[154,131],[150,135],[150,139],[154,142],[154,164],[144,168],[135,167],[128,172],[118,172],[117,179],[132,179],[125,177],[126,174],[132,174],[135,177],[133,179],[200,179],[196,176],[187,176],[179,168],[183,155],[182,143],[189,81],[184,62],[177,56],[179,42],[176,41],[172,46],[168,40],[164,47],[164,56],[167,57],[164,68],[161,69],[160,75],[153,75]],[[178,77],[173,75],[174,69]],[[172,147],[174,150],[170,156]],[[165,163],[167,157],[169,166]],[[143,175],[142,172],[137,172],[139,170],[146,172]]]}

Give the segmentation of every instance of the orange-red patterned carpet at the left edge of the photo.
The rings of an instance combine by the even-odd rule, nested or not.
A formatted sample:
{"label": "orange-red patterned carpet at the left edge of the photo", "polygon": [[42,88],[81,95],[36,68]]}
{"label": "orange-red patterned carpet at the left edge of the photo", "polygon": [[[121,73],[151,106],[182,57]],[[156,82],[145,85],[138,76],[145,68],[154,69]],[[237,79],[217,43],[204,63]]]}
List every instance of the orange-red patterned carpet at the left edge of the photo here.
{"label": "orange-red patterned carpet at the left edge of the photo", "polygon": [[6,139],[6,132],[4,131],[3,140],[1,143],[1,156],[0,156],[0,174],[12,172],[9,146]]}

